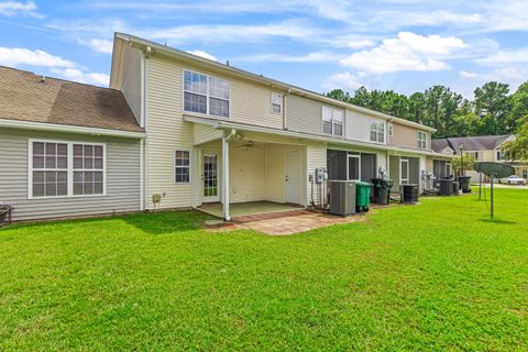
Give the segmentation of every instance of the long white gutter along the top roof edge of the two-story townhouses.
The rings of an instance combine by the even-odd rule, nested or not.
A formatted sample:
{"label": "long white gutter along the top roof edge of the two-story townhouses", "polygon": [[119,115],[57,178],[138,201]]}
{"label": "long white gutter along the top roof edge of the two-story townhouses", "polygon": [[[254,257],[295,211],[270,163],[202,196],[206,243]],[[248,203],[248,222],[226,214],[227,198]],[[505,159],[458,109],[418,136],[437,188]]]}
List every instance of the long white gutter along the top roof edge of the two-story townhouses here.
{"label": "long white gutter along the top roof edge of the two-story townhouses", "polygon": [[241,77],[244,77],[246,79],[251,79],[253,81],[257,81],[257,82],[261,82],[261,84],[272,86],[273,88],[280,88],[285,91],[288,91],[288,94],[294,94],[294,95],[297,95],[297,96],[300,96],[300,97],[309,97],[309,98],[312,98],[315,100],[324,101],[327,103],[338,106],[338,107],[342,107],[342,108],[348,108],[350,110],[354,110],[356,112],[365,113],[365,114],[369,114],[371,117],[375,117],[375,118],[380,118],[380,119],[384,119],[384,120],[394,120],[395,122],[398,122],[400,124],[410,125],[410,127],[420,129],[422,131],[428,131],[428,132],[437,131],[433,128],[430,128],[430,127],[427,127],[427,125],[424,125],[424,124],[420,124],[420,123],[417,123],[417,122],[413,122],[413,121],[408,121],[408,120],[405,120],[405,119],[392,117],[392,116],[386,114],[386,113],[382,113],[382,112],[374,111],[374,110],[371,110],[371,109],[354,106],[352,103],[348,103],[348,102],[344,102],[344,101],[336,100],[333,98],[317,94],[315,91],[310,91],[310,90],[307,90],[307,89],[304,89],[304,88],[300,88],[300,87],[292,86],[292,85],[288,85],[288,84],[285,84],[285,82],[282,82],[282,81],[278,81],[278,80],[275,80],[275,79],[266,78],[264,76],[255,75],[255,74],[252,74],[250,72],[235,68],[233,66],[228,66],[228,65],[218,63],[216,61],[211,61],[211,59],[207,59],[207,58],[204,58],[204,57],[200,57],[200,56],[196,56],[194,54],[189,54],[189,53],[184,52],[184,51],[179,51],[179,50],[168,47],[168,46],[155,43],[155,42],[143,40],[143,38],[138,37],[138,36],[133,36],[133,35],[130,35],[130,34],[124,34],[124,33],[116,33],[116,37],[120,38],[122,41],[132,43],[133,45],[135,45],[136,47],[140,47],[140,48],[150,46],[150,47],[152,47],[152,50],[154,52],[157,51],[157,52],[163,53],[167,56],[173,56],[173,57],[180,58],[180,59],[184,58],[184,59],[193,61],[193,62],[196,62],[196,63],[201,63],[204,65],[217,67],[219,69],[229,72],[231,74],[234,74],[234,75],[238,75],[238,76],[241,76]]}

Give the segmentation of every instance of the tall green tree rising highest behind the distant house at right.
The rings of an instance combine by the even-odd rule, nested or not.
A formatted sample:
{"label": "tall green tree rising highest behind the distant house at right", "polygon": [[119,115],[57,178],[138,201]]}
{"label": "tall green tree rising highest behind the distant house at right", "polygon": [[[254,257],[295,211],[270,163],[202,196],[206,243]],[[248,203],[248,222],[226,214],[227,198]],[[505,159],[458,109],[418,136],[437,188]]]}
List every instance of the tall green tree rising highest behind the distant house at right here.
{"label": "tall green tree rising highest behind the distant house at right", "polygon": [[509,86],[497,81],[488,81],[475,89],[475,111],[482,121],[479,134],[505,134],[514,131],[507,121],[510,109],[508,94]]}

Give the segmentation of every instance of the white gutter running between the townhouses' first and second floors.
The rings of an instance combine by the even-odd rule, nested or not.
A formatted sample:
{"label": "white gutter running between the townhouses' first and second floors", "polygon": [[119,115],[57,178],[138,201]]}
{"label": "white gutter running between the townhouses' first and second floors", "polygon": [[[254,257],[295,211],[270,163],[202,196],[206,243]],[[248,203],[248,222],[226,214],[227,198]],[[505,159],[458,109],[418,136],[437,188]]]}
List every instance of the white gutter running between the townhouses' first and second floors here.
{"label": "white gutter running between the townhouses' first and second floors", "polygon": [[270,133],[275,135],[290,136],[290,138],[297,138],[300,140],[317,141],[317,142],[324,142],[324,143],[331,143],[331,144],[352,145],[352,146],[375,148],[375,150],[382,150],[382,151],[393,151],[393,152],[399,152],[399,153],[422,154],[422,155],[446,157],[446,155],[438,154],[431,150],[418,151],[418,150],[398,147],[394,145],[374,144],[374,143],[367,143],[367,142],[355,141],[355,140],[338,140],[338,139],[327,138],[327,136],[317,135],[317,134],[308,134],[308,133],[294,132],[294,131],[283,131],[283,130],[272,129],[272,128],[248,125],[248,124],[234,123],[234,122],[222,121],[217,119],[184,116],[184,120],[188,122],[194,122],[194,123],[208,124],[213,127],[215,129],[223,129],[223,130],[237,129],[241,131]]}

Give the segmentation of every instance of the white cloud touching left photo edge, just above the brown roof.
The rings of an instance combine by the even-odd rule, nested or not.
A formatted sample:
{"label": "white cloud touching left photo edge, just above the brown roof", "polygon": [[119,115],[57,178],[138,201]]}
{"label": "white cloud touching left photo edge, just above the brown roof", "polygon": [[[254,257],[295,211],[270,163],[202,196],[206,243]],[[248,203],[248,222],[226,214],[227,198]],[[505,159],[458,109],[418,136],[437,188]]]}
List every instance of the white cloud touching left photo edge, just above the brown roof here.
{"label": "white cloud touching left photo edge, just above the brown roof", "polygon": [[46,67],[74,67],[68,59],[48,54],[44,51],[32,51],[23,47],[0,47],[0,65],[16,67],[20,65]]}

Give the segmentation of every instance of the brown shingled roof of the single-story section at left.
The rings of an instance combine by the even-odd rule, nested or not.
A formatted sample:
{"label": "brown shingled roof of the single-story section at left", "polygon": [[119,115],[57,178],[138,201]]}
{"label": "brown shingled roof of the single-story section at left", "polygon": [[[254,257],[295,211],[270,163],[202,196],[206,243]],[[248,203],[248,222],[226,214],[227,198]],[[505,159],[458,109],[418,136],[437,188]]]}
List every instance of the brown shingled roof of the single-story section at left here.
{"label": "brown shingled roof of the single-story section at left", "polygon": [[0,119],[143,132],[119,90],[2,66]]}

